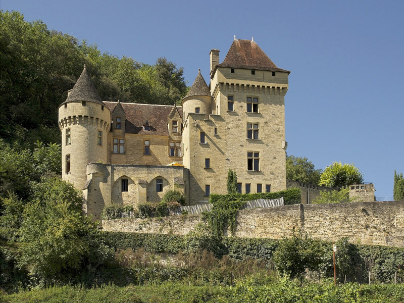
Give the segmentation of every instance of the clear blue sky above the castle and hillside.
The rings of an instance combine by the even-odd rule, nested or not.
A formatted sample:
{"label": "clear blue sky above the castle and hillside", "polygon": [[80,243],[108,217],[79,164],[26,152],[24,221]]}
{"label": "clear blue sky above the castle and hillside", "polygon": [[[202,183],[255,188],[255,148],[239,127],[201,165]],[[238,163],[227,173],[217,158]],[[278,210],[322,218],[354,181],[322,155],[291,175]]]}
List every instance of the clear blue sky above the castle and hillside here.
{"label": "clear blue sky above the castle and hillside", "polygon": [[[0,0],[26,21],[100,51],[184,68],[209,79],[209,52],[224,59],[234,35],[291,71],[285,96],[288,155],[316,168],[355,163],[376,196],[404,172],[404,1]],[[236,135],[236,134],[235,134]]]}

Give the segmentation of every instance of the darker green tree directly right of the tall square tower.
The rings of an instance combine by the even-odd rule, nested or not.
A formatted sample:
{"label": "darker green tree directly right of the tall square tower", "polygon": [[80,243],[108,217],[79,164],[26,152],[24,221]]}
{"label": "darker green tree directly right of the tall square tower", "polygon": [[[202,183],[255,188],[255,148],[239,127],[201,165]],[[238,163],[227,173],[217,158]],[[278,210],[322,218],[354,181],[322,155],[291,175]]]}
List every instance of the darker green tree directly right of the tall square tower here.
{"label": "darker green tree directly right of the tall square tower", "polygon": [[308,159],[290,155],[286,157],[286,179],[305,183],[318,184],[321,169],[315,169]]}

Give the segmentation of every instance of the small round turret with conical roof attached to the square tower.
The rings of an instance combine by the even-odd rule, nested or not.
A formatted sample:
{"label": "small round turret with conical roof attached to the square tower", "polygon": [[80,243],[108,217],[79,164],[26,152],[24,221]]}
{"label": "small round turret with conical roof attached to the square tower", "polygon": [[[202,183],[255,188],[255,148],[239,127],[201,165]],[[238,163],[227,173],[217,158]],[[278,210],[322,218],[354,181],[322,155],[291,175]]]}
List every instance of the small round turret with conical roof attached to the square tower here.
{"label": "small round turret with conical roof attached to the square tower", "polygon": [[205,114],[208,119],[212,113],[211,104],[211,91],[199,69],[195,81],[181,102],[183,119],[185,120],[189,113]]}

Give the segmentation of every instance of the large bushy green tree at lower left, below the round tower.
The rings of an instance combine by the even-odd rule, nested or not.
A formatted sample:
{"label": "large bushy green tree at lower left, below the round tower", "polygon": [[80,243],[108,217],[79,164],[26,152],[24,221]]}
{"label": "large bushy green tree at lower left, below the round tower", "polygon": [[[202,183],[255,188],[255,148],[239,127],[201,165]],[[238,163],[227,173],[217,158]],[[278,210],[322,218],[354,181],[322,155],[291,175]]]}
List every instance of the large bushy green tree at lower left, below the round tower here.
{"label": "large bushy green tree at lower left, below the round tower", "polygon": [[19,229],[19,266],[40,284],[66,281],[94,271],[112,256],[91,218],[82,215],[82,196],[60,177],[33,183]]}

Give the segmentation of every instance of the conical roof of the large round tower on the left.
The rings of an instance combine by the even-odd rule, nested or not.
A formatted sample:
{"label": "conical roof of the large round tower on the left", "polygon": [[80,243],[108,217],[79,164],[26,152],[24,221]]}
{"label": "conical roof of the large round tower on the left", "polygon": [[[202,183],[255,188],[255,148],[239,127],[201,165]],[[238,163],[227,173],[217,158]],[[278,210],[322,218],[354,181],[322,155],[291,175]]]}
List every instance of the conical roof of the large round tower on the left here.
{"label": "conical roof of the large round tower on the left", "polygon": [[76,84],[74,84],[73,89],[64,103],[71,101],[91,101],[98,104],[104,104],[95,89],[94,83],[91,81],[90,74],[87,72],[85,65],[80,77],[77,79]]}

